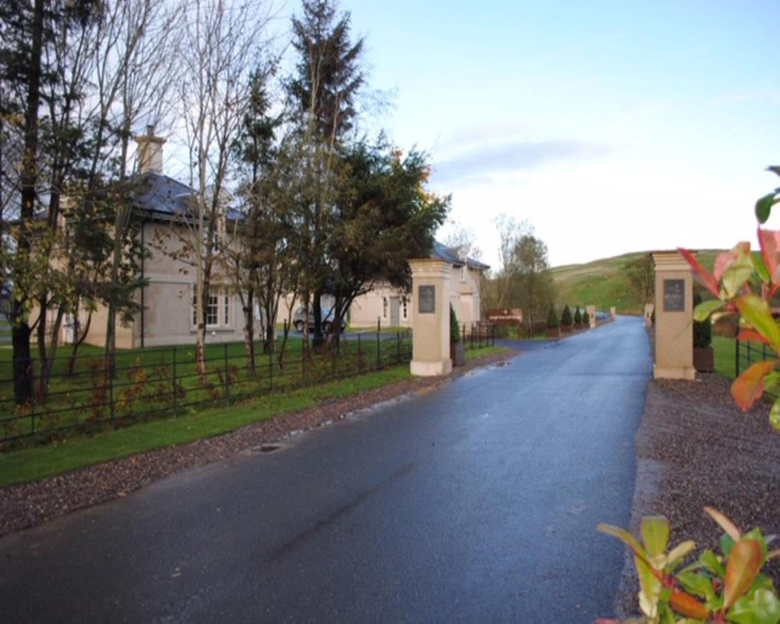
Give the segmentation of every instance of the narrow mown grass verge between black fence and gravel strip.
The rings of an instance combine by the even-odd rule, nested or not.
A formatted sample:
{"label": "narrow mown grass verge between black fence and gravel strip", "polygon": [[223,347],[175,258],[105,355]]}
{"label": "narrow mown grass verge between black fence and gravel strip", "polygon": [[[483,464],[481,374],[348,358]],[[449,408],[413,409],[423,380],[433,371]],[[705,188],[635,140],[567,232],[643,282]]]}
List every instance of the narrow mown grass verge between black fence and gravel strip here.
{"label": "narrow mown grass verge between black fence and gravel strip", "polygon": [[[466,360],[506,350],[498,346],[467,350]],[[134,424],[132,427],[95,434],[91,438],[69,438],[47,446],[0,453],[0,487],[38,480],[140,452],[210,438],[283,413],[305,410],[327,399],[344,398],[409,378],[409,365],[402,364],[384,371],[356,375],[322,385],[264,395],[238,405],[215,407],[197,413],[186,413],[178,418]]]}

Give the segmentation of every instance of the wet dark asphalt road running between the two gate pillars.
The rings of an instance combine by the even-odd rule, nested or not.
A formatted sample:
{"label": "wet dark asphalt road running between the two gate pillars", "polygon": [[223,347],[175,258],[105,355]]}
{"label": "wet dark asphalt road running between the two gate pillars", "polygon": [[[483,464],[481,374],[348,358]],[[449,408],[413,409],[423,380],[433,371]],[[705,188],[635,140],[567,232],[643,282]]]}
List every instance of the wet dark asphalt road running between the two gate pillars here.
{"label": "wet dark asphalt road running between the two gate pillars", "polygon": [[0,539],[7,622],[592,622],[609,615],[641,318]]}

